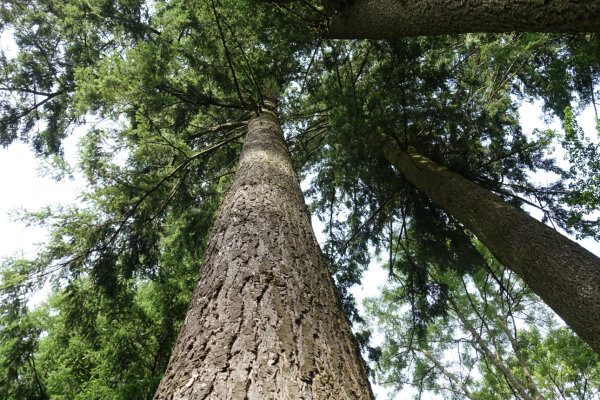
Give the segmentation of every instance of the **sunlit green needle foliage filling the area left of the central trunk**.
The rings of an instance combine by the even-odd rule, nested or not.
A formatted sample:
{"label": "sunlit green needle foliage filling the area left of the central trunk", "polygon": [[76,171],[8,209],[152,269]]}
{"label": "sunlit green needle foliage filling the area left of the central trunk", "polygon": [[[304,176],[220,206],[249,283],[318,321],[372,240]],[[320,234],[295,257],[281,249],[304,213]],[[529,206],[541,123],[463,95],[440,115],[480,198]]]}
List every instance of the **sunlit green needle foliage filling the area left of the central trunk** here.
{"label": "sunlit green needle foliage filling the area left of the central trunk", "polygon": [[[3,263],[0,397],[152,398],[247,121],[296,79],[305,40],[252,2],[2,11],[20,50],[3,59],[3,144],[60,153],[68,129],[84,126],[79,164],[51,173],[74,171],[86,187],[76,207],[25,214],[49,241],[34,260]],[[34,38],[47,47],[25,62]],[[34,86],[61,94],[38,104]],[[32,312],[27,295],[44,281],[53,293]]]}

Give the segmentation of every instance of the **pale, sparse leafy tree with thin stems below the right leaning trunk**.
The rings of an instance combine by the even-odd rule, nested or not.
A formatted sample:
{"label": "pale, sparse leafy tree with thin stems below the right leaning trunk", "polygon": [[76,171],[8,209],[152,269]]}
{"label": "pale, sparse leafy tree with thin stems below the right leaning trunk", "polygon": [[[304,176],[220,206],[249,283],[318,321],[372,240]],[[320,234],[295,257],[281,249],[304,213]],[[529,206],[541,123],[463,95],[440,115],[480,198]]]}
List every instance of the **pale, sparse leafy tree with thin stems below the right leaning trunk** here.
{"label": "pale, sparse leafy tree with thin stems below the right leaning trunk", "polygon": [[[410,236],[409,236],[410,237]],[[423,263],[406,238],[394,263]],[[416,329],[405,304],[409,279],[398,274],[379,299],[368,301],[385,332],[375,368],[395,388],[414,386],[444,398],[593,399],[600,391],[600,359],[556,320],[531,290],[478,246],[484,266],[469,276],[429,266],[428,279],[447,288],[448,314]],[[574,371],[577,371],[574,373]]]}

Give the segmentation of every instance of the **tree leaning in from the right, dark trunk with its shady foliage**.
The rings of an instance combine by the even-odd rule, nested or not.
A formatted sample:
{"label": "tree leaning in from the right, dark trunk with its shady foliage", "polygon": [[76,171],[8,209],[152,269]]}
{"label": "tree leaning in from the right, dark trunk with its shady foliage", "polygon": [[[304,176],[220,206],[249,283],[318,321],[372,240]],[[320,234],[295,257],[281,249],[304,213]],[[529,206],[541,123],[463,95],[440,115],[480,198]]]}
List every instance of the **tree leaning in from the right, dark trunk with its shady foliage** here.
{"label": "tree leaning in from the right, dark trunk with its shady foliage", "polygon": [[[329,115],[333,131],[329,143],[333,142],[339,146],[331,147],[332,153],[335,153],[332,157],[343,160],[334,168],[338,175],[343,173],[339,172],[340,169],[348,168],[347,179],[354,182],[351,185],[346,184],[341,191],[347,192],[348,187],[361,190],[362,186],[370,192],[371,198],[377,198],[376,204],[379,204],[370,209],[362,207],[364,203],[348,206],[352,211],[360,210],[358,213],[361,213],[350,216],[349,221],[359,221],[355,226],[361,228],[364,228],[367,222],[376,224],[377,219],[373,219],[370,212],[381,211],[382,205],[392,197],[398,201],[395,206],[390,207],[395,210],[381,213],[379,221],[393,223],[396,216],[404,219],[406,215],[409,218],[431,221],[432,215],[435,215],[431,212],[423,211],[418,215],[414,213],[417,212],[415,210],[422,209],[423,204],[433,201],[434,207],[444,209],[447,216],[440,214],[437,226],[430,228],[427,233],[423,232],[424,243],[431,241],[433,237],[436,238],[433,241],[438,243],[438,250],[431,248],[426,251],[440,254],[439,248],[443,249],[444,246],[439,244],[450,241],[453,246],[465,243],[462,245],[463,249],[457,253],[469,254],[466,250],[469,247],[468,241],[458,237],[463,235],[461,226],[470,229],[507,267],[525,279],[588,344],[597,348],[598,330],[595,327],[598,321],[590,320],[588,315],[595,315],[594,310],[597,307],[595,293],[600,287],[600,260],[518,208],[524,203],[533,205],[544,212],[545,221],[552,221],[570,231],[573,231],[575,221],[579,220],[577,227],[581,229],[580,232],[586,231],[586,235],[594,235],[593,227],[597,226],[593,213],[588,214],[592,219],[585,220],[583,214],[575,216],[573,209],[569,210],[563,195],[566,181],[574,178],[574,170],[561,171],[545,155],[553,134],[537,132],[537,137],[532,140],[521,131],[517,122],[517,103],[513,102],[510,96],[515,93],[520,96],[524,94],[523,85],[519,84],[519,81],[530,81],[537,77],[537,72],[520,72],[521,68],[517,63],[527,65],[530,62],[529,57],[521,58],[523,53],[535,50],[552,55],[553,52],[561,51],[567,44],[572,43],[567,41],[565,44],[559,40],[556,46],[548,47],[539,39],[539,35],[513,35],[513,42],[507,45],[506,37],[502,36],[482,37],[479,40],[477,37],[470,37],[470,40],[462,43],[441,47],[442,52],[448,51],[447,63],[444,63],[443,55],[435,53],[435,40],[442,44],[443,40],[452,39],[404,40],[398,42],[398,47],[384,49],[387,57],[376,55],[371,62],[368,56],[362,55],[357,57],[358,61],[354,61],[354,50],[349,50],[350,46],[344,49],[342,44],[333,54],[336,51],[337,54],[342,54],[340,58],[344,67],[335,70],[326,68],[329,72],[325,72],[331,83],[324,86],[324,90],[335,88],[335,93],[329,92],[319,96],[319,99],[321,108],[339,112],[337,115],[334,112]],[[377,48],[377,45],[374,48]],[[383,46],[379,44],[379,48]],[[411,49],[412,54],[407,49]],[[483,51],[487,49],[495,49],[498,52],[494,52],[497,58],[490,59],[490,68],[485,71],[481,66],[486,63],[481,58],[486,56]],[[474,56],[478,52],[481,52],[479,59]],[[491,56],[491,53],[488,54]],[[429,57],[431,64],[428,64]],[[390,61],[387,64],[382,60]],[[386,67],[387,70],[384,69]],[[395,73],[395,68],[403,69]],[[503,77],[499,78],[499,71],[503,68],[507,70],[504,70]],[[546,66],[546,69],[553,68]],[[358,71],[358,75],[354,71]],[[541,71],[546,73],[544,69]],[[371,80],[371,74],[381,72],[385,75],[376,75],[378,78]],[[563,79],[572,81],[569,72]],[[485,92],[482,90],[485,87],[491,87],[491,90]],[[552,95],[551,91],[546,93],[549,98],[555,101],[558,99],[559,95],[556,92],[552,91]],[[423,99],[419,96],[423,96]],[[312,105],[316,101],[311,98],[308,102]],[[398,104],[403,106],[399,107]],[[549,107],[555,106],[549,101]],[[348,115],[353,115],[353,123],[346,123]],[[465,119],[465,115],[469,118]],[[384,136],[384,140],[371,139],[377,138],[380,132],[393,133]],[[381,191],[373,190],[378,183],[373,183],[370,172],[356,173],[356,166],[361,165],[362,171],[379,171],[382,167],[376,166],[372,159],[357,153],[360,142],[370,142],[376,152],[382,152],[386,160],[393,164],[413,187],[400,187],[401,181],[393,185],[393,178],[376,178],[378,182],[385,179],[389,189],[380,186]],[[406,151],[409,148],[412,150]],[[340,149],[344,150],[340,152]],[[436,163],[425,161],[426,159],[421,157],[423,154],[437,160]],[[589,154],[592,157],[590,160],[593,160],[594,156]],[[557,182],[551,187],[536,187],[525,173],[527,170],[556,173]],[[320,179],[328,179],[328,182],[331,182],[326,172],[323,169],[320,171]],[[366,184],[362,184],[361,181]],[[324,192],[323,186],[320,187],[321,193]],[[408,197],[406,192],[401,193],[402,190],[408,190],[410,193],[415,189],[419,193],[412,197]],[[450,194],[446,189],[455,191]],[[327,202],[333,198],[329,193],[323,195],[319,201],[323,218],[327,218],[328,213],[332,215],[326,207]],[[423,195],[429,198],[425,200],[426,203],[423,201]],[[357,198],[356,194],[353,194],[349,201]],[[483,198],[489,199],[489,202],[483,201]],[[364,197],[360,201],[364,202]],[[405,206],[408,214],[398,215],[398,210],[403,208],[403,201],[419,204]],[[432,206],[433,204],[428,207]],[[514,216],[514,219],[509,218],[509,215]],[[423,225],[432,226],[433,222],[429,221]],[[452,239],[444,239],[439,234],[448,231],[449,223],[457,223],[454,229],[457,233]],[[382,227],[385,227],[385,224],[375,226],[374,229],[382,232]],[[523,232],[527,233],[517,239]],[[342,236],[346,239],[356,239],[357,233],[350,229],[350,232],[346,231]],[[385,234],[382,236],[385,237]],[[377,239],[373,240],[372,231],[367,231],[365,237],[377,244]],[[341,244],[340,247],[342,250],[348,249],[347,244]],[[444,258],[452,259],[448,255]],[[462,263],[464,270],[473,265],[469,264],[468,257],[456,262]],[[568,291],[569,294],[561,292],[562,290]],[[574,311],[580,307],[586,308],[588,312]]]}

